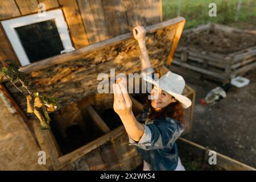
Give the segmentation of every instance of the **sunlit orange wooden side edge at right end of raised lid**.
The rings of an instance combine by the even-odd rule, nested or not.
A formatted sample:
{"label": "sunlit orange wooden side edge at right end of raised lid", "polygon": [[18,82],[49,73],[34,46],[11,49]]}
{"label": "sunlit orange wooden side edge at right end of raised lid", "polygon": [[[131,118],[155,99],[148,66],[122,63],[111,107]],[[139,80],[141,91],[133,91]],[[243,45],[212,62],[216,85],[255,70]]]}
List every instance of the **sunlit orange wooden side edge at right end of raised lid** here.
{"label": "sunlit orange wooden side edge at right end of raised lid", "polygon": [[167,64],[169,66],[172,64],[172,59],[174,58],[174,53],[176,51],[177,44],[179,43],[184,26],[185,26],[185,19],[182,22],[180,22],[179,24],[177,24],[176,33],[174,36],[174,40],[172,40],[172,47],[171,47],[170,54],[169,54],[168,60],[167,60]]}

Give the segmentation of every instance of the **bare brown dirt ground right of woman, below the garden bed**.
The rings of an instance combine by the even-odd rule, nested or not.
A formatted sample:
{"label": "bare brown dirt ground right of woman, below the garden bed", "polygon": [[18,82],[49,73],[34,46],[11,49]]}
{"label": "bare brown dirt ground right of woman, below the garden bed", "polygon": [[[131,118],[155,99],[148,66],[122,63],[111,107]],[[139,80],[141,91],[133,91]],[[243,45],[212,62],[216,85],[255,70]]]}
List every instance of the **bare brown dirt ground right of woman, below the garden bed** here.
{"label": "bare brown dirt ground right of woman, below the garden bed", "polygon": [[230,88],[227,97],[212,106],[200,100],[218,84],[200,80],[200,74],[185,68],[172,66],[171,71],[196,90],[193,126],[184,138],[256,167],[256,70],[245,75],[249,85]]}

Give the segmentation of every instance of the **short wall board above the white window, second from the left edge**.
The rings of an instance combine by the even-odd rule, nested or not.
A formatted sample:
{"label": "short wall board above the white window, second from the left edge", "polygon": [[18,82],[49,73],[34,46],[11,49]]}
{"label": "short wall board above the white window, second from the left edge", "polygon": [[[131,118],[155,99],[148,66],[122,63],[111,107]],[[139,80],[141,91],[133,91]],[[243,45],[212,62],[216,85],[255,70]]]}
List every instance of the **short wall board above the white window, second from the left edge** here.
{"label": "short wall board above the white window, second from the left edge", "polygon": [[37,0],[16,0],[19,10],[22,15],[38,12]]}

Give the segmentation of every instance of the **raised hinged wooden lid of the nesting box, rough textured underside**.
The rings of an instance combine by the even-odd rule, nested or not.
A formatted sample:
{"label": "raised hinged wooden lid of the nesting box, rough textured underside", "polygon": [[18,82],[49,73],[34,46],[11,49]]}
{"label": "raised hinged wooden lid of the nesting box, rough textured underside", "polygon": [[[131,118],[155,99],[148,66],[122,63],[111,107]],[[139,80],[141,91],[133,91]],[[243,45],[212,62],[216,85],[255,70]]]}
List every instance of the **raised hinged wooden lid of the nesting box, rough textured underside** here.
{"label": "raised hinged wooden lid of the nesting box, rough textured underside", "polygon": [[[177,17],[145,27],[146,46],[153,67],[171,65],[184,24],[185,19]],[[57,97],[60,107],[64,107],[97,92],[99,73],[110,75],[112,68],[115,74],[139,72],[139,55],[138,43],[130,32],[26,65],[19,71],[29,73],[28,86],[33,92]],[[17,94],[9,82],[6,86],[26,113],[26,97]]]}

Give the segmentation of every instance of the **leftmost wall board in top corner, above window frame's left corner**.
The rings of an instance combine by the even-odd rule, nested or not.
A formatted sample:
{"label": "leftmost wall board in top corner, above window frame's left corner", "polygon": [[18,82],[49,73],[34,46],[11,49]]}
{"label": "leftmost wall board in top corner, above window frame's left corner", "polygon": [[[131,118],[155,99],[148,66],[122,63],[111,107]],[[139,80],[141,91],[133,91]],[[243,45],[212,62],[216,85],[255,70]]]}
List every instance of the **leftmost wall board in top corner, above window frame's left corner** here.
{"label": "leftmost wall board in top corner, above window frame's left corner", "polygon": [[0,0],[0,20],[20,16],[14,0]]}

